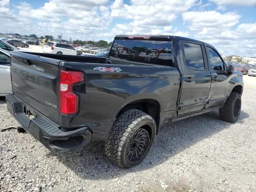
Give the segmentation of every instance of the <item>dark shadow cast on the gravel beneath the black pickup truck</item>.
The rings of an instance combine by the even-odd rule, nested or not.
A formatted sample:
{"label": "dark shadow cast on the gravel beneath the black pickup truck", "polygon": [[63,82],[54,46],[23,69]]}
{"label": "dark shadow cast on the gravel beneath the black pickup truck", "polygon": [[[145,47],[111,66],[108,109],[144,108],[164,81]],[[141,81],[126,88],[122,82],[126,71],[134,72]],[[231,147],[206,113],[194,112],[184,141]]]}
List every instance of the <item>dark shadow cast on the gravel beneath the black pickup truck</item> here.
{"label": "dark shadow cast on the gravel beneath the black pickup truck", "polygon": [[[248,117],[248,113],[241,111],[237,123],[242,124]],[[104,155],[104,142],[99,141],[92,141],[84,148],[73,152],[49,154],[56,156],[60,163],[82,179],[108,180],[158,166],[197,142],[230,128],[230,125],[232,123],[219,119],[218,111],[164,125],[160,128],[146,159],[130,169],[118,168],[112,164]]]}

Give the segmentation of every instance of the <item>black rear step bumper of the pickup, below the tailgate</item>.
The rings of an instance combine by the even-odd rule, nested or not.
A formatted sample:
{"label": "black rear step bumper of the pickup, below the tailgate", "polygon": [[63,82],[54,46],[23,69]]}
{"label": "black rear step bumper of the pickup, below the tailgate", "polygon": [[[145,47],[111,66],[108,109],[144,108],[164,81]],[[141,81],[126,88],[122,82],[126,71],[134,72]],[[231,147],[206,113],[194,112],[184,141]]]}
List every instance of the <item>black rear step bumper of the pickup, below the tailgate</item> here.
{"label": "black rear step bumper of the pickup, below the tailgate", "polygon": [[[88,144],[92,138],[92,132],[88,127],[71,131],[60,130],[60,126],[22,102],[14,94],[8,94],[6,102],[8,111],[22,125],[24,130],[52,151],[75,150]],[[28,106],[36,113],[35,118],[30,119],[26,116],[24,112],[25,106]]]}

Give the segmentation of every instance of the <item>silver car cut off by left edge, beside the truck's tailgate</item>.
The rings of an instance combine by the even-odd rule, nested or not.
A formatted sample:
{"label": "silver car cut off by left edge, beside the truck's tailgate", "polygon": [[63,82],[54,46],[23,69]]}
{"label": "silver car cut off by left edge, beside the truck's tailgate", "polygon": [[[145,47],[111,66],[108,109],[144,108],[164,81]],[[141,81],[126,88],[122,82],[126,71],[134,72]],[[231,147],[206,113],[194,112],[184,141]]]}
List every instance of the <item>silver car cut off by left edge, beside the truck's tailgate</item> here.
{"label": "silver car cut off by left edge, beside the truck's tailgate", "polygon": [[10,54],[0,48],[0,96],[6,96],[10,93],[12,93]]}

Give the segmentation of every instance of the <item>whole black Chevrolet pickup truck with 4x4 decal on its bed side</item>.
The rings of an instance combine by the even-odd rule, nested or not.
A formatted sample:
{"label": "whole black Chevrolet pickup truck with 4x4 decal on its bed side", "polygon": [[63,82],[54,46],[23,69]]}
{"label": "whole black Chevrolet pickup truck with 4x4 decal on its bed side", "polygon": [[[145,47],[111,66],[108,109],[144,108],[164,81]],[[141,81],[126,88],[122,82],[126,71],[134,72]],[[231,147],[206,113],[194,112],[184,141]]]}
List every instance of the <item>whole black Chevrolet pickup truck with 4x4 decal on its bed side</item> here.
{"label": "whole black Chevrolet pickup truck with 4x4 decal on its bed side", "polygon": [[164,123],[217,109],[227,122],[240,115],[242,73],[197,40],[118,35],[107,58],[10,54],[8,110],[50,150],[102,140],[106,156],[128,168]]}

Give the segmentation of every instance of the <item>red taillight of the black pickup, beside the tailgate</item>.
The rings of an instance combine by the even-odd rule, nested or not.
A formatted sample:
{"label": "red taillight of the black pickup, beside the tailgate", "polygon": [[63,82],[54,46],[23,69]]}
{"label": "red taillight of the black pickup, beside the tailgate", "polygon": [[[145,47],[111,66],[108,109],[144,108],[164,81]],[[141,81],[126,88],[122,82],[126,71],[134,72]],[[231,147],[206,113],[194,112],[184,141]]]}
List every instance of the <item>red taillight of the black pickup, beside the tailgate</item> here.
{"label": "red taillight of the black pickup, beside the tailgate", "polygon": [[60,113],[65,115],[76,114],[78,111],[78,96],[73,92],[73,85],[84,81],[82,72],[60,70]]}

